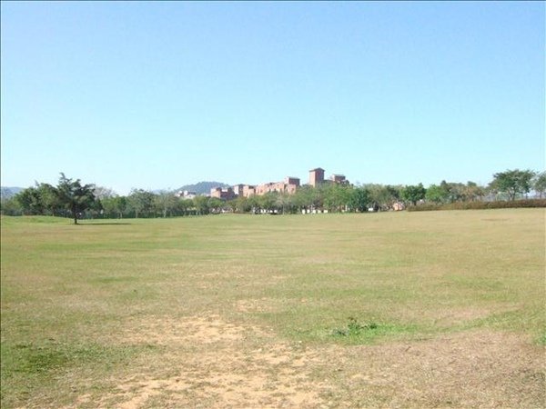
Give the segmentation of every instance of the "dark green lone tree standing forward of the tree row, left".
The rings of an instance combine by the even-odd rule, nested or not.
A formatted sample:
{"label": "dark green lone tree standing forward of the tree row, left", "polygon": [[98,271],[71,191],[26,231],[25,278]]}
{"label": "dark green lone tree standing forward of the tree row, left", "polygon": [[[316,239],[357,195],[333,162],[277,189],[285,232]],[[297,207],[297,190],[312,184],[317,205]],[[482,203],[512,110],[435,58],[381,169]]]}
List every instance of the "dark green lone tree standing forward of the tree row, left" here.
{"label": "dark green lone tree standing forward of the tree row, left", "polygon": [[61,174],[56,186],[59,204],[65,207],[77,224],[77,217],[95,203],[95,185],[82,185],[79,179],[68,179]]}

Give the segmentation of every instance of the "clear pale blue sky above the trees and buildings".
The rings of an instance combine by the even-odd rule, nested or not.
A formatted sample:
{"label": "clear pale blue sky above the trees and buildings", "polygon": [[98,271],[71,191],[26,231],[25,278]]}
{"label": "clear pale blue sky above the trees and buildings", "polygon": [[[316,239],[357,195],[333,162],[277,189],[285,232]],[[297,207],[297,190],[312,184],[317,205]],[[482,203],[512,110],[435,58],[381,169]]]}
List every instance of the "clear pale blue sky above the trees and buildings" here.
{"label": "clear pale blue sky above the trees and buildings", "polygon": [[545,5],[3,2],[2,185],[545,167]]}

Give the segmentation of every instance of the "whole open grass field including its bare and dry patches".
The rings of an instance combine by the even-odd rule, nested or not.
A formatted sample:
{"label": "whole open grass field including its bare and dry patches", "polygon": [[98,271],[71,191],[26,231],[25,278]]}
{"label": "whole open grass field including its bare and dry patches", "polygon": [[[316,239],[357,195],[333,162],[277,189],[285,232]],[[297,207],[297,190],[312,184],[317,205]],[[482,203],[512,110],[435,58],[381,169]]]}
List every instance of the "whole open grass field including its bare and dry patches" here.
{"label": "whole open grass field including its bare and dry patches", "polygon": [[2,407],[544,407],[543,209],[2,218]]}

